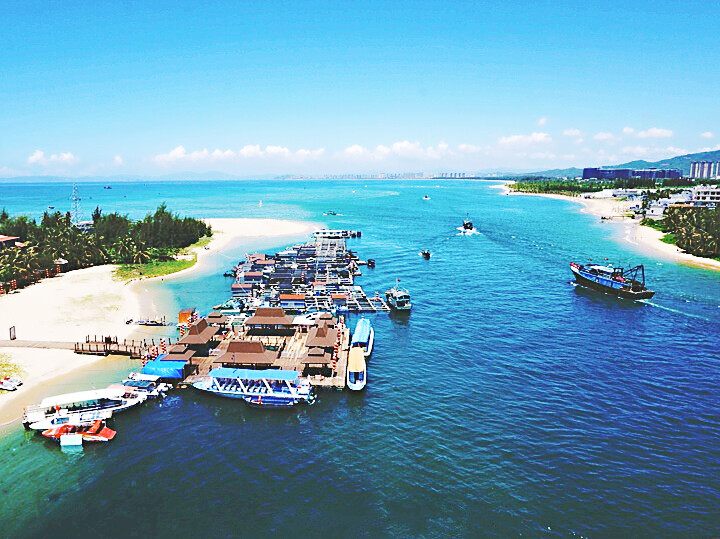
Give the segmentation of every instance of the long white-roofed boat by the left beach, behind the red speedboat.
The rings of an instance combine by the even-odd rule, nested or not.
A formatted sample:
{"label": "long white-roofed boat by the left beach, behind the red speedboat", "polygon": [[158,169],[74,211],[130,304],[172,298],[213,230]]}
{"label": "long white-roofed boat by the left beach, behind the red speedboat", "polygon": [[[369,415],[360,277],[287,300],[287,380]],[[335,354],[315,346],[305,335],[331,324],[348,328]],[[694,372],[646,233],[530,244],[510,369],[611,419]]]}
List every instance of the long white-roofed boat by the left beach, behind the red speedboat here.
{"label": "long white-roofed boat by the left beach, behind the red speedboat", "polygon": [[87,424],[146,400],[147,394],[129,391],[124,386],[56,395],[25,408],[23,425],[26,429],[46,430],[63,423]]}

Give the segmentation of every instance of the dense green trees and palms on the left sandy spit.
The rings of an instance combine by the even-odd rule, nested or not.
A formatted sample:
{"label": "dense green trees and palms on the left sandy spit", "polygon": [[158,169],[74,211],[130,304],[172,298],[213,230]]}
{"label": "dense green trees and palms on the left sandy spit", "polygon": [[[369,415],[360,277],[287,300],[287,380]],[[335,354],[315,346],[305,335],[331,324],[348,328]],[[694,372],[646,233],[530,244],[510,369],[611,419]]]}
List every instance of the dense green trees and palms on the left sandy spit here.
{"label": "dense green trees and palms on the left sandy spit", "polygon": [[20,243],[0,249],[0,284],[7,291],[13,280],[20,288],[58,271],[101,264],[155,264],[162,270],[153,273],[170,273],[178,265],[192,265],[192,257],[178,260],[180,251],[211,234],[202,221],[179,217],[165,204],[140,221],[117,212],[103,215],[97,207],[88,226],[73,224],[69,213],[45,212],[36,222],[2,210],[0,235],[16,236]]}

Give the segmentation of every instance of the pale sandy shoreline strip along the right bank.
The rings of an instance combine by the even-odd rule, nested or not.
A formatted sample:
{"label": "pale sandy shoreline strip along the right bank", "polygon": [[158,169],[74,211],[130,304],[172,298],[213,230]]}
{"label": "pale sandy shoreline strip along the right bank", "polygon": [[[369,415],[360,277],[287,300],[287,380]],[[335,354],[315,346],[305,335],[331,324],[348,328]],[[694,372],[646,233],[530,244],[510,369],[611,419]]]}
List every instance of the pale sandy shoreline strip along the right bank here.
{"label": "pale sandy shoreline strip along the right bank", "polygon": [[680,250],[677,245],[663,242],[661,239],[665,235],[663,232],[641,225],[637,219],[625,217],[623,214],[630,207],[628,201],[573,197],[555,193],[519,193],[510,189],[509,184],[498,184],[492,187],[501,189],[503,194],[511,196],[537,196],[576,202],[582,206],[581,213],[605,218],[604,222],[606,223],[624,226],[623,239],[649,256],[657,256],[684,266],[720,271],[720,261],[686,253]]}

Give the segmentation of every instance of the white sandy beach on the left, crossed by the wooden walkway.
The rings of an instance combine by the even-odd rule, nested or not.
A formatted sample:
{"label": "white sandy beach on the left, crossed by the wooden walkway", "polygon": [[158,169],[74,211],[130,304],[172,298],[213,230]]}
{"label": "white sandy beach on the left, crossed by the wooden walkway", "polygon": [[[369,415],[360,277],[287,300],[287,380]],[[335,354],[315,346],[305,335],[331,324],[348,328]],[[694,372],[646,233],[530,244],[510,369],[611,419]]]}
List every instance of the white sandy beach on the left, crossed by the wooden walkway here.
{"label": "white sandy beach on the left, crossed by the wooden walkway", "polygon": [[[244,238],[283,237],[309,234],[311,223],[276,219],[207,219],[213,239],[196,249],[198,262],[191,268],[162,277],[170,280],[202,268],[213,253]],[[44,279],[16,294],[0,296],[0,340],[9,338],[15,326],[18,340],[76,342],[86,335],[117,336],[120,340],[137,329],[125,321],[140,314],[140,296],[147,294],[145,280],[121,282],[113,279],[115,266],[97,266]],[[156,278],[160,279],[160,277]],[[24,385],[16,392],[0,395],[0,416],[9,408],[28,404],[23,395],[58,377],[88,368],[99,356],[77,356],[69,350],[0,348],[0,353],[22,370]]]}

